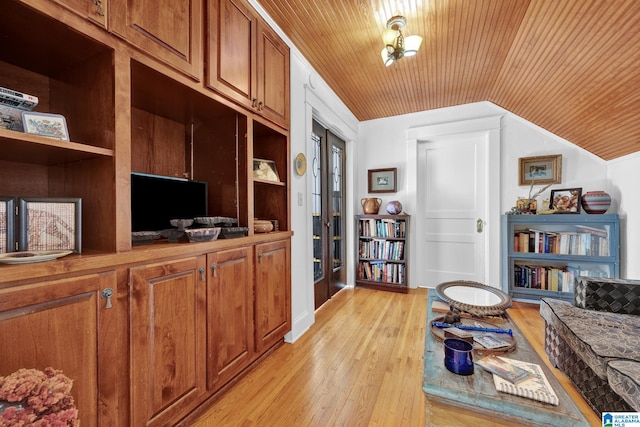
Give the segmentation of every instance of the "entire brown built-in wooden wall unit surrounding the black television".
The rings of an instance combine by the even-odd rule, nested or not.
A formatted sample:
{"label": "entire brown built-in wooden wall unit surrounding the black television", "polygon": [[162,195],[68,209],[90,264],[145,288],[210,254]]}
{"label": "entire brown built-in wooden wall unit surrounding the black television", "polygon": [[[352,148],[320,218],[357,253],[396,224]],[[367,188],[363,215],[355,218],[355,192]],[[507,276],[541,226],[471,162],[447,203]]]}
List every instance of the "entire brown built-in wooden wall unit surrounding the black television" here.
{"label": "entire brown built-in wooden wall unit surrounding the black television", "polygon": [[[247,51],[233,52],[249,59],[235,65],[220,49],[241,19],[217,15],[232,7],[251,21]],[[0,265],[0,340],[11,343],[0,375],[63,370],[82,425],[184,422],[291,328],[288,48],[237,0],[10,0],[2,11],[0,86],[64,115],[71,141],[0,129],[0,195],[81,198],[83,252]],[[212,44],[220,23],[225,42]],[[221,56],[223,76],[250,76],[249,102],[212,84],[205,62]],[[254,158],[280,180],[254,179]],[[248,236],[132,247],[132,172],[206,181],[209,214]],[[256,234],[254,219],[279,229]]]}

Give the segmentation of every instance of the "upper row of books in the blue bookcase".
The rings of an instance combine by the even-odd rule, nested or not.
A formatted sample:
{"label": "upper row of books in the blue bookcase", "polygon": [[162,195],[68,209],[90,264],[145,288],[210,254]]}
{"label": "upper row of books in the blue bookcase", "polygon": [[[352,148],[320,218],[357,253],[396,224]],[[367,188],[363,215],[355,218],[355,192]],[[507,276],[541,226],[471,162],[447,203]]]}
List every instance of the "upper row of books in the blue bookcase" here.
{"label": "upper row of books in the blue bookcase", "polygon": [[513,250],[545,254],[609,256],[609,237],[605,230],[595,228],[576,232],[527,229],[514,233]]}

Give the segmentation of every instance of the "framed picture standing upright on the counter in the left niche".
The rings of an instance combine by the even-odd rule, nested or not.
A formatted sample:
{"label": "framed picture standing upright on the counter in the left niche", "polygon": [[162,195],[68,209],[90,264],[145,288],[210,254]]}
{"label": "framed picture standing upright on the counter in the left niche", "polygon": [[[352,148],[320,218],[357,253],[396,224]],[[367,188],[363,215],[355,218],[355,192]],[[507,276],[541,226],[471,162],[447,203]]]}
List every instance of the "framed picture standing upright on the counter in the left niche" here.
{"label": "framed picture standing upright on the counter in the left niche", "polygon": [[81,252],[82,199],[18,199],[19,251]]}

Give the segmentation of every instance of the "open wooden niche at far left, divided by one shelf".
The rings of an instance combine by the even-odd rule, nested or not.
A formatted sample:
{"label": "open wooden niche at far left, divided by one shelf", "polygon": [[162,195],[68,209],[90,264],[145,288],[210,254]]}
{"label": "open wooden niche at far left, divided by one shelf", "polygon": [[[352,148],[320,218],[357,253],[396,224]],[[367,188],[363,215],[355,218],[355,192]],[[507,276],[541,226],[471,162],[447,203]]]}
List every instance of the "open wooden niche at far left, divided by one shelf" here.
{"label": "open wooden niche at far left, divided by one shelf", "polygon": [[0,195],[82,198],[83,248],[113,252],[114,50],[20,3],[2,8],[0,86],[62,114],[70,142],[0,130]]}

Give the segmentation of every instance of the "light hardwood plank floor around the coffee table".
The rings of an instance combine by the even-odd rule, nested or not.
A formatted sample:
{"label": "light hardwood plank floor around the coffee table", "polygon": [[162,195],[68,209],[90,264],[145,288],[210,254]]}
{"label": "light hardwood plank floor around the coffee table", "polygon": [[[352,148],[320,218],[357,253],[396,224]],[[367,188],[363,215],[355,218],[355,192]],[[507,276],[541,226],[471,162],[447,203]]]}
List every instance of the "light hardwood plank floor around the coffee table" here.
{"label": "light hardwood plank floor around the coffee table", "polygon": [[[422,391],[426,289],[398,294],[344,289],[316,312],[311,329],[284,344],[218,399],[193,425],[509,425],[429,405]],[[544,321],[536,304],[510,315],[542,359]],[[601,422],[569,380],[554,374],[591,425]]]}

